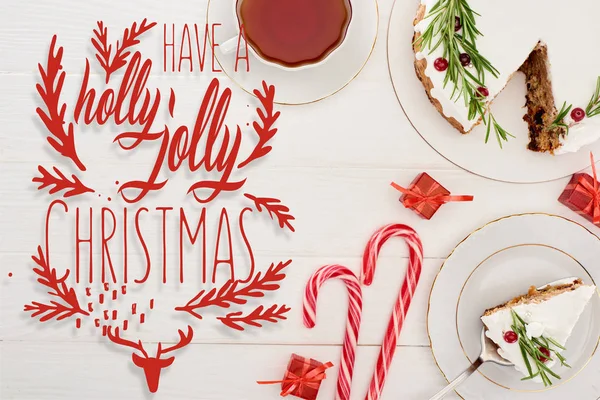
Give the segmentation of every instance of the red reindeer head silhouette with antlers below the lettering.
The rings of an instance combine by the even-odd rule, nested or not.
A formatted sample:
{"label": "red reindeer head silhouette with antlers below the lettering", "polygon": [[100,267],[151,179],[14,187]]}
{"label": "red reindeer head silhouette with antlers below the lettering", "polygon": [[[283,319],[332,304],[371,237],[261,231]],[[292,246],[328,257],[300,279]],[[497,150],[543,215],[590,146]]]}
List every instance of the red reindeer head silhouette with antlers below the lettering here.
{"label": "red reindeer head silhouette with antlers below the lettering", "polygon": [[160,380],[160,372],[163,368],[169,367],[171,364],[173,364],[173,361],[175,361],[175,357],[173,356],[169,358],[161,357],[169,352],[172,352],[174,350],[180,349],[188,345],[192,341],[192,337],[194,336],[194,331],[191,326],[188,326],[187,335],[184,334],[181,329],[178,332],[179,341],[173,346],[166,347],[163,349],[162,343],[158,343],[156,357],[148,356],[148,353],[146,353],[146,350],[144,350],[144,346],[142,345],[141,340],[136,343],[127,339],[123,339],[119,335],[119,328],[115,328],[114,334],[112,332],[112,329],[109,328],[107,336],[111,342],[121,346],[131,347],[132,349],[135,349],[142,354],[141,356],[139,356],[134,352],[131,355],[131,359],[133,360],[133,363],[136,366],[144,370],[144,375],[146,375],[146,383],[148,384],[148,390],[150,390],[151,393],[156,393],[156,391],[158,390],[158,382]]}

